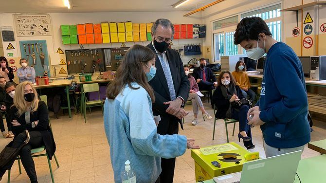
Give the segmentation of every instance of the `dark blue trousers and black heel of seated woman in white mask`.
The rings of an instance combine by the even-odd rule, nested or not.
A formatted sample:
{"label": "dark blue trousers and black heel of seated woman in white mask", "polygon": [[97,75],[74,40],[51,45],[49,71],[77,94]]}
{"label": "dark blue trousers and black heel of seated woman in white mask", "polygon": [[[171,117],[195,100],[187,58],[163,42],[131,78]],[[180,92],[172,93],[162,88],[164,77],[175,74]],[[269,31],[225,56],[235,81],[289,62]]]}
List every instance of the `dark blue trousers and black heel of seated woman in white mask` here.
{"label": "dark blue trousers and black heel of seated woman in white mask", "polygon": [[[249,106],[247,105],[242,105],[238,111],[233,109],[233,119],[239,121],[239,131],[245,131],[247,136],[251,137],[251,128],[247,120],[248,110]],[[243,141],[243,144],[244,146],[251,146],[253,145],[253,139],[248,142]]]}

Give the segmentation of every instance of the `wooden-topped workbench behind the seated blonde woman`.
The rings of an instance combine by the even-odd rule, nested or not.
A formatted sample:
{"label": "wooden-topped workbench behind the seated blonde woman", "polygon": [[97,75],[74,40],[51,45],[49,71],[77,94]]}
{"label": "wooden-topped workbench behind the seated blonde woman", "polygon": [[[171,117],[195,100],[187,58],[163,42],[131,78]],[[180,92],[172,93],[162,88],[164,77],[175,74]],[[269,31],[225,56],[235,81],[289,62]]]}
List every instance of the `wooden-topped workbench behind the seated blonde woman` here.
{"label": "wooden-topped workbench behind the seated blonde woman", "polygon": [[61,107],[61,109],[68,109],[69,117],[72,117],[72,111],[70,109],[70,97],[69,97],[69,87],[72,84],[71,79],[60,79],[60,80],[52,80],[51,83],[48,85],[36,85],[36,89],[46,89],[46,88],[57,88],[57,87],[66,87],[66,94],[67,94],[67,102],[68,107]]}

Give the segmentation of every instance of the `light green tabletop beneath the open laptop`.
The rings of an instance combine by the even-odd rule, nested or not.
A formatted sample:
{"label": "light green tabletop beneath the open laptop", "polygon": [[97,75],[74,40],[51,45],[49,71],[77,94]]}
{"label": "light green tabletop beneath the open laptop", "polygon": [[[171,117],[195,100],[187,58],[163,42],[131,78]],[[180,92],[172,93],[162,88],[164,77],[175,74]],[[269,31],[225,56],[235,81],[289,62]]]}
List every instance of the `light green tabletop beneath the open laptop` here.
{"label": "light green tabletop beneath the open laptop", "polygon": [[[325,162],[326,154],[300,160],[297,174],[300,177],[301,183],[325,183]],[[203,181],[203,183],[215,182],[211,179]],[[295,175],[293,183],[299,183],[298,176]]]}

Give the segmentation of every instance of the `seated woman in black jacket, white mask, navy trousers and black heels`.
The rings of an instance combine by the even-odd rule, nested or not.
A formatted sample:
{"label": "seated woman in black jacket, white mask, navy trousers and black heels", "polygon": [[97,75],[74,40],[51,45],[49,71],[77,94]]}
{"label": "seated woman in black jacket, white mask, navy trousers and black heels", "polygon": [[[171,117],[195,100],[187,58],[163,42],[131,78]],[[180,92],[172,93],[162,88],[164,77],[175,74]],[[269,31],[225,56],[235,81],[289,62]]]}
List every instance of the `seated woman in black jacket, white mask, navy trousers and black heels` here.
{"label": "seated woman in black jacket, white mask, navy trousers and black heels", "polygon": [[223,71],[219,74],[217,78],[217,89],[213,94],[213,103],[217,106],[217,112],[215,117],[218,119],[222,118],[233,118],[239,121],[239,142],[240,138],[243,139],[244,146],[247,149],[254,148],[251,129],[247,121],[247,112],[249,106],[241,105],[237,107],[236,101],[244,98],[240,88],[236,86],[235,79],[233,78],[230,71]]}

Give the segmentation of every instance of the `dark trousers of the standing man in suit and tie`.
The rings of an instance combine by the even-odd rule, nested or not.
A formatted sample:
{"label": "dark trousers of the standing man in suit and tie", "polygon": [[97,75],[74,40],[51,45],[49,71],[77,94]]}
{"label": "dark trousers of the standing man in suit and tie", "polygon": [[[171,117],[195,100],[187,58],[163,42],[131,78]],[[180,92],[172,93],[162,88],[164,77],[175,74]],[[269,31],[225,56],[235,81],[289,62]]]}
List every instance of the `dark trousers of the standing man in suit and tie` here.
{"label": "dark trousers of the standing man in suit and tie", "polygon": [[[170,122],[169,129],[166,134],[161,135],[173,135],[179,132],[179,122]],[[176,158],[165,159],[161,158],[161,168],[162,172],[160,175],[161,183],[173,183],[174,177],[174,167],[176,165]]]}

